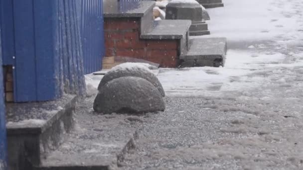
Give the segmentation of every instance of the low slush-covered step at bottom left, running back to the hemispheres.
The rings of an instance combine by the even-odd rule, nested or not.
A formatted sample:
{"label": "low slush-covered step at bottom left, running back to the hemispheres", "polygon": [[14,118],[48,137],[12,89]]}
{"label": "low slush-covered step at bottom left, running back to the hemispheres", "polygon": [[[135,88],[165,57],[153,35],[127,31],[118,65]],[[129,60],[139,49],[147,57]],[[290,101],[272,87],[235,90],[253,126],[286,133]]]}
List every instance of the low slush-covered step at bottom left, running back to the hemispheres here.
{"label": "low slush-covered step at bottom left, running back to the hemispheres", "polygon": [[[33,170],[116,170],[135,146],[139,121],[130,115],[96,114],[95,95],[78,102],[75,129]],[[138,118],[140,119],[140,118]]]}

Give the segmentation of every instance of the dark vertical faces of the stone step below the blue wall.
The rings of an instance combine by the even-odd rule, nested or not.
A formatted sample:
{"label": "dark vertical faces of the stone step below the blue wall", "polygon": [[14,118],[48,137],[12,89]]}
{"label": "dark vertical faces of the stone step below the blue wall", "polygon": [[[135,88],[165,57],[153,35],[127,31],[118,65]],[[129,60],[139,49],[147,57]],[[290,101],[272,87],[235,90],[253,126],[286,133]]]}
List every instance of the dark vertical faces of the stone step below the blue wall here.
{"label": "dark vertical faces of the stone step below the blue wall", "polygon": [[[13,153],[8,159],[9,166],[19,163],[27,163],[27,166],[38,165],[41,158],[56,150],[64,142],[64,134],[70,132],[74,127],[72,114],[75,111],[77,100],[79,97],[74,95],[63,106],[63,109],[55,113],[42,127],[39,127],[40,130],[36,130],[39,129],[37,127],[28,129],[28,134],[25,133],[26,130],[22,133],[7,134],[8,152]],[[10,140],[13,141],[10,142]],[[18,148],[15,143],[19,144]],[[14,157],[18,154],[23,157]]]}

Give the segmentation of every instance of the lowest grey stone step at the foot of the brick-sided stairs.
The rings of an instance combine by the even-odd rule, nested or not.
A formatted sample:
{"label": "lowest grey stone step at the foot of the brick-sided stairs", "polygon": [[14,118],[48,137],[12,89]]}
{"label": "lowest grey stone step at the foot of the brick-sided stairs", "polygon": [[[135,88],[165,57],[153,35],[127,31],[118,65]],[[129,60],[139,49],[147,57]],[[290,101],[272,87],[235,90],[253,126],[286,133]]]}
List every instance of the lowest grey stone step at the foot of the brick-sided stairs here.
{"label": "lowest grey stone step at the foot of the brick-sided stairs", "polygon": [[187,53],[180,56],[181,67],[224,66],[226,38],[192,38]]}

